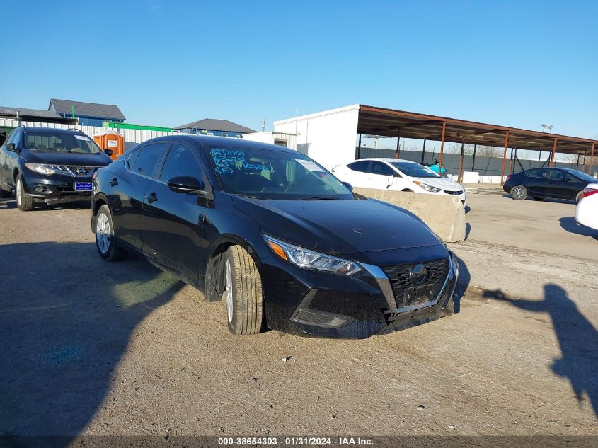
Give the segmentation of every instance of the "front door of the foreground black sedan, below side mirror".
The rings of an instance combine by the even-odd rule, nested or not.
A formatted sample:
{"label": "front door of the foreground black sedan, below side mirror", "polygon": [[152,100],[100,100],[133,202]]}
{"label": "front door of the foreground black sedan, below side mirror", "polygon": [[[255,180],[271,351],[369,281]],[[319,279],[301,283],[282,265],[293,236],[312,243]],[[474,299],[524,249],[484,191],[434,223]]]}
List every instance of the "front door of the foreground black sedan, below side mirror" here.
{"label": "front door of the foreground black sedan, below side mirror", "polygon": [[207,246],[202,240],[205,200],[170,190],[168,180],[176,176],[191,176],[209,185],[195,151],[174,142],[144,197],[144,253],[197,281]]}

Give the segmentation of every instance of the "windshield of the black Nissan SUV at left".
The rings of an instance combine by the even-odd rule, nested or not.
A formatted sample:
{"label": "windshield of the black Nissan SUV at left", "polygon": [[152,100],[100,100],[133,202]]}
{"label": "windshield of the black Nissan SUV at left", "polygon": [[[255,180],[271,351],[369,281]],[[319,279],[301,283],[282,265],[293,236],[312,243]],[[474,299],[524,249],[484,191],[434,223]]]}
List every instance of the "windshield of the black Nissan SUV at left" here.
{"label": "windshield of the black Nissan SUV at left", "polygon": [[25,131],[25,148],[43,152],[96,154],[98,145],[85,134],[60,131]]}

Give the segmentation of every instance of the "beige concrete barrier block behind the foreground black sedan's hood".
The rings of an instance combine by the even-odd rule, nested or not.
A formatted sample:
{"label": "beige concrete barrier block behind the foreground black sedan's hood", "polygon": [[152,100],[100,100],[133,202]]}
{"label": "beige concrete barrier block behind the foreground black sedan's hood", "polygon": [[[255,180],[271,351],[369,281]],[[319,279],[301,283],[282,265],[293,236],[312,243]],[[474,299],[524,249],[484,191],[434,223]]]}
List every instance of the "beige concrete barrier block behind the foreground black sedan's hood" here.
{"label": "beige concrete barrier block behind the foreground black sedan's hood", "polygon": [[447,243],[465,239],[465,208],[459,198],[408,191],[354,188],[355,193],[407,209]]}

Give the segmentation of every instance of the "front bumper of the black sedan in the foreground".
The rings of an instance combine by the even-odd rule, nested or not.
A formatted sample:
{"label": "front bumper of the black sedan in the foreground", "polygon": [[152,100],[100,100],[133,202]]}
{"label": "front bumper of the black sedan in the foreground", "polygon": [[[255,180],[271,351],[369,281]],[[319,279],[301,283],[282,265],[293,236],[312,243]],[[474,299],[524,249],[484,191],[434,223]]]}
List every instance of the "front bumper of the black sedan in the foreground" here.
{"label": "front bumper of the black sedan in the foreground", "polygon": [[330,338],[368,338],[403,330],[452,314],[458,267],[452,255],[442,286],[431,300],[400,303],[389,277],[376,266],[353,277],[305,270],[276,258],[262,263],[268,327]]}

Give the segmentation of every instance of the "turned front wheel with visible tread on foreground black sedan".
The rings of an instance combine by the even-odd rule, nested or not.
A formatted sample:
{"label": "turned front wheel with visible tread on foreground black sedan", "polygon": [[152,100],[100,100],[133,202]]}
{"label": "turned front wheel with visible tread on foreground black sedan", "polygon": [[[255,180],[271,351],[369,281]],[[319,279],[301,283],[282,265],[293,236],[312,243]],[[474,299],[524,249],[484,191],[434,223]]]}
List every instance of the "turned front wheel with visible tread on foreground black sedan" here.
{"label": "turned front wheel with visible tread on foreground black sedan", "polygon": [[263,318],[262,279],[251,255],[231,246],[224,261],[226,321],[235,335],[260,333]]}

